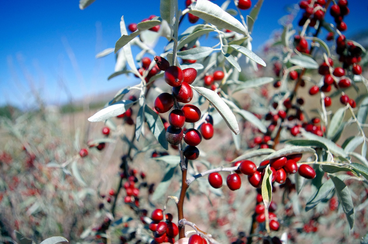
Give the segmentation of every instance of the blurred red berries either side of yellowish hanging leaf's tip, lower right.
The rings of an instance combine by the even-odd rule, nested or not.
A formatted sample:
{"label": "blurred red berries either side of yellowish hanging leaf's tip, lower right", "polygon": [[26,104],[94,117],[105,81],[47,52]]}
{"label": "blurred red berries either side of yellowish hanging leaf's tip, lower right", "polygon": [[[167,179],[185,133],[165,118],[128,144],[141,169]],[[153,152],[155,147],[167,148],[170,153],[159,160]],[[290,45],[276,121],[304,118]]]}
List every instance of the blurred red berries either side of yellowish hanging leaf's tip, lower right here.
{"label": "blurred red berries either side of yellowish hanging leaf's tip, lower right", "polygon": [[[263,198],[261,194],[257,194],[256,197],[257,205],[255,206],[254,212],[256,213],[255,220],[258,223],[263,223],[266,220],[265,216],[265,205],[263,204]],[[268,207],[268,218],[270,220],[270,229],[271,230],[279,230],[280,229],[280,222],[277,220],[277,216],[275,214],[275,211],[277,210],[277,204],[274,201],[271,201],[269,207]]]}

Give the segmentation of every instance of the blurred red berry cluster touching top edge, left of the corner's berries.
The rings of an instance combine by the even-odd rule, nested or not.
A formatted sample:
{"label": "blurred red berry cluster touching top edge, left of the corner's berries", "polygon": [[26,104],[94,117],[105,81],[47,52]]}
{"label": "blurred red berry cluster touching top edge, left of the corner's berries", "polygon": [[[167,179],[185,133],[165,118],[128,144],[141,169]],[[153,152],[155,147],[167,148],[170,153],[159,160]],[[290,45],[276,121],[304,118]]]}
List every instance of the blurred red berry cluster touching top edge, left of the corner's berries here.
{"label": "blurred red berry cluster touching top edge, left of the corner's berries", "polygon": [[309,26],[314,27],[317,21],[325,18],[325,4],[326,0],[316,0],[313,5],[311,0],[301,1],[299,6],[304,9],[304,13],[298,25],[303,26],[307,19],[310,19]]}

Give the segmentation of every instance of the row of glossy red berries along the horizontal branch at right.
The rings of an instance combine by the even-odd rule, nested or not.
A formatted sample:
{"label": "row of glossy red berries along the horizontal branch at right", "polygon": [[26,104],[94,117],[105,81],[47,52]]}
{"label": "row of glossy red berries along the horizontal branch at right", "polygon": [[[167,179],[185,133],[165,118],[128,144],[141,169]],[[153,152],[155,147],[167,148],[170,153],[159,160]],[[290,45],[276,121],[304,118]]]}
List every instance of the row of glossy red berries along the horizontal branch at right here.
{"label": "row of glossy red berries along the horizontal branch at right", "polygon": [[[238,166],[235,173],[227,176],[226,184],[230,190],[238,190],[241,186],[241,179],[239,174],[243,173],[248,176],[249,183],[258,188],[262,184],[263,176],[265,175],[266,165],[270,164],[270,170],[272,171],[272,182],[284,183],[287,179],[287,174],[293,174],[298,171],[299,175],[307,179],[314,179],[316,172],[314,169],[307,165],[302,164],[299,166],[297,162],[301,159],[302,154],[293,154],[284,157],[274,158],[261,162],[259,167],[250,160],[237,161],[233,166]],[[222,176],[217,173],[210,173],[208,175],[208,182],[214,188],[222,187]]]}

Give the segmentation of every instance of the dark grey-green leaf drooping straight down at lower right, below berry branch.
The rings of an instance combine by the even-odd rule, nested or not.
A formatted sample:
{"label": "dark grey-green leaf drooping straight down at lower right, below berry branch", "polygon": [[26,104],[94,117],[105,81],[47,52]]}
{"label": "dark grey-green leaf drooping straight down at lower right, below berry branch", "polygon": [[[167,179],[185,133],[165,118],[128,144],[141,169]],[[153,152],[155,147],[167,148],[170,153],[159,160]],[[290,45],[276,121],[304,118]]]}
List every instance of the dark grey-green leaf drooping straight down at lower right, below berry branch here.
{"label": "dark grey-green leaf drooping straight down at lower right, below berry branch", "polygon": [[349,223],[350,229],[353,229],[354,226],[354,205],[353,200],[351,199],[350,191],[347,188],[346,184],[340,180],[339,178],[331,175],[331,179],[333,184],[336,187],[336,194],[339,198],[340,204],[342,204],[344,213],[346,214],[347,221]]}

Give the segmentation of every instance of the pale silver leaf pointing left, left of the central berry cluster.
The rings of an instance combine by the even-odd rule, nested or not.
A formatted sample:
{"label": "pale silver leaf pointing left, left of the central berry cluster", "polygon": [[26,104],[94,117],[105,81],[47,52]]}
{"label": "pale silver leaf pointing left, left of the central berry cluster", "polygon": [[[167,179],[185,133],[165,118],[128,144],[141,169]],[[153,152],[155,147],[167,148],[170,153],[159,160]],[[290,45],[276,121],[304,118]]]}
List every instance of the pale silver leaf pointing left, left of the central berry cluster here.
{"label": "pale silver leaf pointing left, left of the central berry cluster", "polygon": [[134,104],[131,100],[122,100],[114,103],[102,110],[98,111],[96,114],[88,118],[88,121],[97,122],[104,121],[105,119],[110,119],[114,116],[124,114],[132,105]]}

